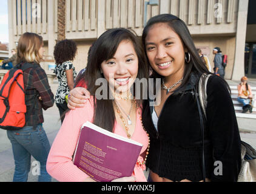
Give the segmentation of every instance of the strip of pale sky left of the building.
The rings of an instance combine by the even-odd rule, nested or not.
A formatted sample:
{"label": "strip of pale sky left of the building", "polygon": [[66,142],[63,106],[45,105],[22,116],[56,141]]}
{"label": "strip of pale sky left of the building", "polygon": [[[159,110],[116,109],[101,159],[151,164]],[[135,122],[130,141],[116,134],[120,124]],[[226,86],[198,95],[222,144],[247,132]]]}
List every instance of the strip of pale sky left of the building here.
{"label": "strip of pale sky left of the building", "polygon": [[8,36],[8,0],[0,0],[0,42],[9,42]]}

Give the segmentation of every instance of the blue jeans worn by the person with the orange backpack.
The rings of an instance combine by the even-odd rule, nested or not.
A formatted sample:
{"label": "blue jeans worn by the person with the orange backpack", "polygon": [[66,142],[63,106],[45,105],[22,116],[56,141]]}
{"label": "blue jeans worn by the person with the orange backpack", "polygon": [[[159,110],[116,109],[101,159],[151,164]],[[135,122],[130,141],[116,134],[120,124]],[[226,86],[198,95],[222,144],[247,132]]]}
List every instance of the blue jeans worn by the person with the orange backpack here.
{"label": "blue jeans worn by the person with the orange backpack", "polygon": [[20,130],[7,130],[8,139],[12,143],[13,156],[15,160],[15,173],[13,182],[26,182],[30,172],[31,155],[36,159],[32,171],[33,175],[39,175],[39,182],[52,181],[46,171],[47,157],[50,152],[50,143],[42,124],[36,126],[25,126]]}

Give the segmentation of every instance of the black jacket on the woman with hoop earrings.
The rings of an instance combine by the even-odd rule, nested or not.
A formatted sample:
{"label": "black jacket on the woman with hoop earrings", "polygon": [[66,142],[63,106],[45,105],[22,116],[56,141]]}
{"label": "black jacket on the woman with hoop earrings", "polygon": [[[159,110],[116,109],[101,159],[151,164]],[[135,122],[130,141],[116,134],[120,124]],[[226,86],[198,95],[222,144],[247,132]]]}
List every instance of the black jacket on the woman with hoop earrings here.
{"label": "black jacket on the woman with hoop earrings", "polygon": [[[194,95],[197,85],[198,76],[192,74],[183,92],[166,99],[158,118],[158,132],[153,126],[149,101],[143,104],[143,125],[150,135],[146,166],[172,181],[203,179],[200,116]],[[207,82],[206,116],[207,119],[203,117],[206,178],[237,181],[241,165],[237,118],[229,90],[215,75]]]}

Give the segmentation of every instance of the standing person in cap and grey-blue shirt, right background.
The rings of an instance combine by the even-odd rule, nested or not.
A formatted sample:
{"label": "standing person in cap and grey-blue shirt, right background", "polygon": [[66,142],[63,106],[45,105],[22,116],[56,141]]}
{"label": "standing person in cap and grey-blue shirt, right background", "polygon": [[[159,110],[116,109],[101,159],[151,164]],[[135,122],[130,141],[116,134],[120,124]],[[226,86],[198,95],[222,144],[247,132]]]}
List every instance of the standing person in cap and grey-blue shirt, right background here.
{"label": "standing person in cap and grey-blue shirt, right background", "polygon": [[222,65],[222,53],[219,47],[215,47],[212,53],[215,55],[214,56],[214,74],[220,75],[221,78],[224,79],[225,75],[225,70]]}

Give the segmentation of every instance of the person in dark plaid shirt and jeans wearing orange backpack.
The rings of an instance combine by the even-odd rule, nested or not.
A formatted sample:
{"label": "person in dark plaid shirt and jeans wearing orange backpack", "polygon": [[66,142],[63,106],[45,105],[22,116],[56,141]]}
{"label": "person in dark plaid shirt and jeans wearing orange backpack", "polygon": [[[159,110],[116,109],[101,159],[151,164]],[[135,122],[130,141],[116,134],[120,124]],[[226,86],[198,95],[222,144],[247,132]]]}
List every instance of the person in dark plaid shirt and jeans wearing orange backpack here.
{"label": "person in dark plaid shirt and jeans wearing orange backpack", "polygon": [[42,127],[44,122],[42,109],[47,110],[53,106],[54,96],[47,75],[39,65],[44,53],[43,45],[42,36],[29,32],[21,35],[18,42],[18,64],[16,67],[20,69],[22,65],[27,63],[32,64],[33,67],[25,69],[23,73],[27,108],[25,126],[19,130],[7,130],[15,159],[14,182],[27,181],[31,156],[39,162],[38,181],[50,182],[52,179],[46,171],[50,143]]}

